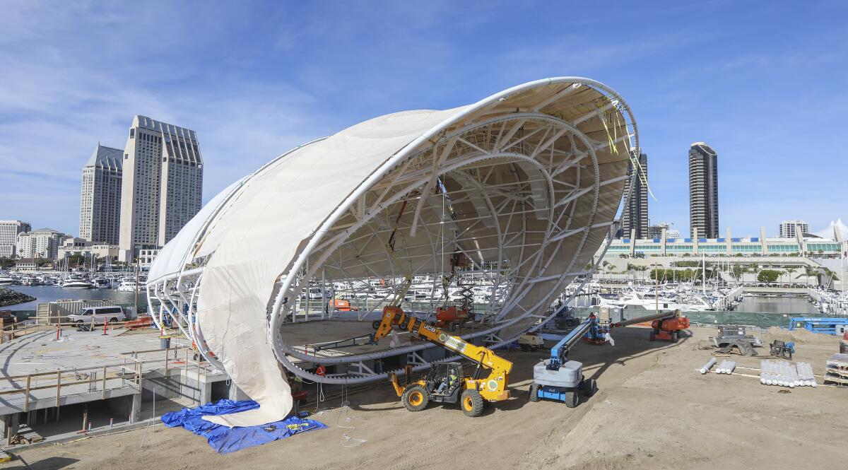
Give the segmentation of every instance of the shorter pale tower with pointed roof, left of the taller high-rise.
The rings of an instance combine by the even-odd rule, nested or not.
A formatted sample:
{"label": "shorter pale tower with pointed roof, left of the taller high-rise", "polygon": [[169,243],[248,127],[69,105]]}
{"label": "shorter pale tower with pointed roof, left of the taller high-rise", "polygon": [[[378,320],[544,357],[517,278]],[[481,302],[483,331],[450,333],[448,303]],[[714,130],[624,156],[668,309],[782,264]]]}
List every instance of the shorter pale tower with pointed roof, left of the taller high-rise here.
{"label": "shorter pale tower with pointed roof, left of the taller high-rise", "polygon": [[120,234],[120,179],[124,152],[98,143],[82,167],[80,238],[118,244]]}

